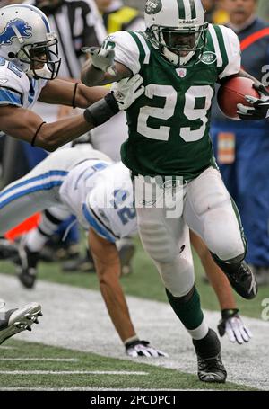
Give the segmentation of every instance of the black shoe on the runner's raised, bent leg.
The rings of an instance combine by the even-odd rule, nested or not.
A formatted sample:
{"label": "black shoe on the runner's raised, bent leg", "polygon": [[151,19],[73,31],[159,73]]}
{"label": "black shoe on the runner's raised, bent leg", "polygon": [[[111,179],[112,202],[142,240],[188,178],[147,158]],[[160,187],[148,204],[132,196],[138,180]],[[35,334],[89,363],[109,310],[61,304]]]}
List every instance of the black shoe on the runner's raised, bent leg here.
{"label": "black shoe on the runner's raised, bent leg", "polygon": [[239,294],[239,296],[252,299],[257,294],[257,283],[254,273],[251,271],[247,262],[241,262],[238,271],[225,272],[231,287]]}

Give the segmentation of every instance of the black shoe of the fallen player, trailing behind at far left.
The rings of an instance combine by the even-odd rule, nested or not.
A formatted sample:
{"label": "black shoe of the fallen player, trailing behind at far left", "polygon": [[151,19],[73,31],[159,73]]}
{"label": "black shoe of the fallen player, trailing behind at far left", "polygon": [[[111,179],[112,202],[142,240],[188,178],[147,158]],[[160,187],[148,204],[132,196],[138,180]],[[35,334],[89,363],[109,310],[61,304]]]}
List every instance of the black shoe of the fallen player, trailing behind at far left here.
{"label": "black shoe of the fallen player, trailing behind at far left", "polygon": [[19,258],[17,260],[18,278],[26,289],[32,289],[37,279],[37,264],[39,262],[39,253],[30,252],[28,247],[20,245]]}

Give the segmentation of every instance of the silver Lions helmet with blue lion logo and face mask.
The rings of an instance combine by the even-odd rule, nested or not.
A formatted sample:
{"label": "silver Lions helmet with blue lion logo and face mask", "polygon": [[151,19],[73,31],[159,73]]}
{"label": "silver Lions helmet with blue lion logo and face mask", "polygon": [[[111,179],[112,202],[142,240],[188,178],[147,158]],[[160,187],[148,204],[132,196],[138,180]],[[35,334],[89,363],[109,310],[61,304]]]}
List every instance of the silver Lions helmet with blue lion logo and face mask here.
{"label": "silver Lions helmet with blue lion logo and face mask", "polygon": [[61,58],[46,15],[30,4],[7,5],[0,14],[0,56],[13,61],[27,76],[56,78]]}

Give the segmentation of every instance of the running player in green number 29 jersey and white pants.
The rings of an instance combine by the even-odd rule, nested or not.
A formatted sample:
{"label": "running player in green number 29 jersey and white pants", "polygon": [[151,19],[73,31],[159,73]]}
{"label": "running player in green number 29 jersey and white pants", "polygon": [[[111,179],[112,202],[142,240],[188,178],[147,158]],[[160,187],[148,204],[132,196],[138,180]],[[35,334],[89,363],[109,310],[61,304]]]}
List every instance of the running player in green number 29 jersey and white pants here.
{"label": "running player in green number 29 jersey and white pants", "polygon": [[[204,240],[233,289],[254,298],[256,279],[244,262],[246,239],[209,137],[215,83],[247,74],[240,71],[237,36],[204,22],[201,0],[148,0],[144,16],[146,31],[117,31],[101,49],[89,49],[82,82],[108,84],[143,76],[145,93],[126,111],[129,138],[121,149],[134,178],[140,236],[171,307],[193,339],[198,377],[225,382],[221,345],[204,321],[195,289],[189,228]],[[265,87],[255,82],[261,98],[250,100],[250,108],[239,105],[241,119],[269,115]],[[145,193],[149,186],[155,190],[152,196]],[[163,194],[181,204],[173,217],[171,201],[163,202]]]}

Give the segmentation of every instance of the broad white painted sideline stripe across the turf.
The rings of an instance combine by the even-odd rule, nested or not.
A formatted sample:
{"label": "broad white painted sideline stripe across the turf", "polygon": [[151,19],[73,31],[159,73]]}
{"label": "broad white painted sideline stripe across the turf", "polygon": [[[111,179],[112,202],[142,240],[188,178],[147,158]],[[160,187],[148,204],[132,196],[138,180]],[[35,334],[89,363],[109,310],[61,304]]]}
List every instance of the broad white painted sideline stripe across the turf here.
{"label": "broad white painted sideline stripe across the turf", "polygon": [[[30,301],[39,301],[42,305],[44,316],[40,324],[34,325],[32,333],[20,333],[15,339],[128,359],[99,291],[44,281],[38,281],[35,290],[27,290],[22,289],[15,277],[1,274],[0,280],[0,298],[5,299],[7,308]],[[196,373],[192,342],[169,305],[143,298],[128,297],[127,300],[138,335],[169,353],[169,358],[135,361]],[[216,329],[220,313],[205,311],[205,318]],[[221,339],[228,380],[269,390],[269,322],[246,317],[244,322],[254,335],[248,344],[239,346]]]}

